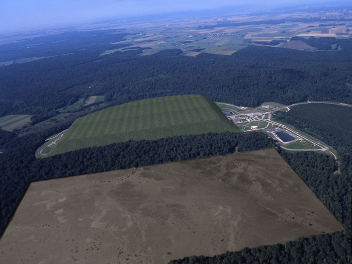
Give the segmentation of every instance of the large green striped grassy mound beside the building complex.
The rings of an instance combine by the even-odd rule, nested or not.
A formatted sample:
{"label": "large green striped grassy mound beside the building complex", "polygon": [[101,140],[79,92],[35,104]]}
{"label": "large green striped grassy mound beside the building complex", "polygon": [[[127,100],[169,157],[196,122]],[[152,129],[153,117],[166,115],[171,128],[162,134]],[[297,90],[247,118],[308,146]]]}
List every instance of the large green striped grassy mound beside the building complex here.
{"label": "large green striped grassy mound beside the building complex", "polygon": [[213,101],[199,95],[159,97],[78,118],[48,156],[130,139],[226,131],[237,132],[238,128]]}

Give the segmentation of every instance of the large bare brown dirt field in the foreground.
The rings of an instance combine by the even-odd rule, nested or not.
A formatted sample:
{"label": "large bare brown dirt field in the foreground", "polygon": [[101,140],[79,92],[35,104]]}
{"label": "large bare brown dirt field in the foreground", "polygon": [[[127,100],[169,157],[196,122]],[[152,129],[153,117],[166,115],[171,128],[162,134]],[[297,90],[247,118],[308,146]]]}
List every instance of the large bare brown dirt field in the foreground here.
{"label": "large bare brown dirt field in the foreground", "polygon": [[33,183],[1,263],[166,263],[344,230],[274,150]]}

